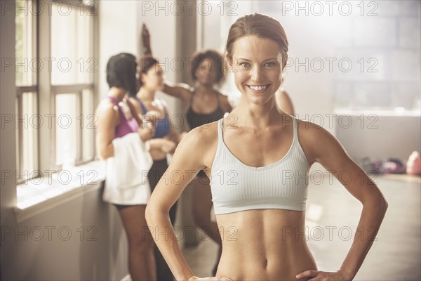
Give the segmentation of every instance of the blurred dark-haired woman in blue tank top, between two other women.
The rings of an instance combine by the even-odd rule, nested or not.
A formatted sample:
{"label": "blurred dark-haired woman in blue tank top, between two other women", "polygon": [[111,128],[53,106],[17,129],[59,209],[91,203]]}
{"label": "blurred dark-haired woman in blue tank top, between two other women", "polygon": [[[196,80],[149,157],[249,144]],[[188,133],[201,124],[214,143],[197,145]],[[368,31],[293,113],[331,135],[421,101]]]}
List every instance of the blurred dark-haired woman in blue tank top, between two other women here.
{"label": "blurred dark-haired woman in blue tank top, between two other women", "polygon": [[[152,167],[149,169],[147,178],[151,192],[154,191],[156,183],[161,179],[166,169],[168,168],[167,153],[173,153],[176,145],[180,142],[180,135],[171,124],[168,106],[165,101],[156,98],[156,91],[163,89],[163,72],[159,66],[158,60],[154,58],[142,58],[138,67],[138,82],[140,89],[135,95],[131,95],[130,101],[135,108],[136,114],[140,118],[152,117],[155,124],[155,132],[152,139],[154,141],[171,141],[173,148],[171,150],[156,150],[151,151],[154,159]],[[165,144],[165,143],[164,143]],[[165,152],[164,152],[165,151]],[[177,202],[170,209],[171,224],[175,222],[175,213],[177,210]],[[159,249],[155,247],[156,259],[156,280],[173,280],[173,275],[170,268],[163,259]]]}

